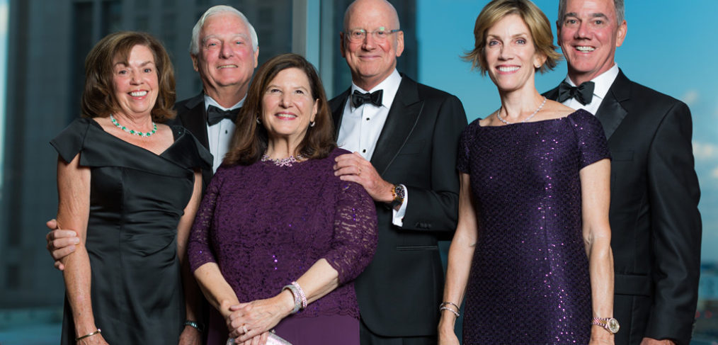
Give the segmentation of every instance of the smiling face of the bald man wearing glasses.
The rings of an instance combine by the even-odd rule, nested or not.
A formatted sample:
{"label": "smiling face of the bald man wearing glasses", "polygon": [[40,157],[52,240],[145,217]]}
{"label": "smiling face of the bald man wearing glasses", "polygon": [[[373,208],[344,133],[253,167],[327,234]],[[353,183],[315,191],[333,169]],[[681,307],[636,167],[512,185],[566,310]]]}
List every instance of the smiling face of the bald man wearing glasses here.
{"label": "smiling face of the bald man wearing glasses", "polygon": [[404,52],[404,32],[394,32],[384,40],[366,35],[364,40],[350,42],[345,33],[353,29],[374,32],[399,28],[396,10],[383,0],[356,1],[345,17],[345,32],[340,34],[342,57],[352,72],[352,80],[364,90],[370,90],[386,79],[396,68],[396,57]]}

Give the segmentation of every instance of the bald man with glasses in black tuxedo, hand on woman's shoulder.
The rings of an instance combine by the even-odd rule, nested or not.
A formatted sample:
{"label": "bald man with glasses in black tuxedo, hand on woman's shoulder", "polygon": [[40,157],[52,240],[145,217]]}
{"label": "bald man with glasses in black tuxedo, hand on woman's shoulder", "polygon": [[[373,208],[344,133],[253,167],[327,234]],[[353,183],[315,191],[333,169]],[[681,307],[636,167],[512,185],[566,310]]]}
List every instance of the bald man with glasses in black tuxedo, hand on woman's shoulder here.
{"label": "bald man with glasses in black tuxedo, hand on woman's shoulder", "polygon": [[437,240],[456,227],[456,155],[466,115],[458,98],[401,75],[404,33],[384,0],[350,4],[340,33],[352,85],[330,101],[335,174],[377,206],[379,242],[355,280],[361,344],[436,344],[443,270]]}

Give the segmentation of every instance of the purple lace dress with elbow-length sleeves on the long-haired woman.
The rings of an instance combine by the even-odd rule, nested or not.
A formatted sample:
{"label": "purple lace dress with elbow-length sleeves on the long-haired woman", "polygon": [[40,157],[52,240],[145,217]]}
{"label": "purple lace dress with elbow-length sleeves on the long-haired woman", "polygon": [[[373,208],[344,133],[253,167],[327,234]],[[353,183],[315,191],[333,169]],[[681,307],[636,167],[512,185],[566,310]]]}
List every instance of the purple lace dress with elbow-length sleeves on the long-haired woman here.
{"label": "purple lace dress with elbow-length sleeves on the long-haired woman", "polygon": [[[273,297],[322,258],[339,272],[338,288],[276,327],[294,345],[359,341],[353,280],[376,249],[376,209],[361,185],[334,175],[343,153],[292,166],[220,167],[192,226],[192,270],[216,262],[241,302]],[[227,339],[218,323],[209,344]]]}

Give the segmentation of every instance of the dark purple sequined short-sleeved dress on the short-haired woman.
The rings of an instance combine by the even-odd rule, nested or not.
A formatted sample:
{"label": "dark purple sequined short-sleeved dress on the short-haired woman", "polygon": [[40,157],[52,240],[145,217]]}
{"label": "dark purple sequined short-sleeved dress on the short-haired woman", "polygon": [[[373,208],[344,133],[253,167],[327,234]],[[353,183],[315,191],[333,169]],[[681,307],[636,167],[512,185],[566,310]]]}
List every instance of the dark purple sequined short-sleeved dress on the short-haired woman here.
{"label": "dark purple sequined short-sleeved dress on the short-haired woman", "polygon": [[470,175],[480,229],[463,344],[588,344],[579,170],[608,157],[600,122],[583,110],[465,129],[457,169]]}

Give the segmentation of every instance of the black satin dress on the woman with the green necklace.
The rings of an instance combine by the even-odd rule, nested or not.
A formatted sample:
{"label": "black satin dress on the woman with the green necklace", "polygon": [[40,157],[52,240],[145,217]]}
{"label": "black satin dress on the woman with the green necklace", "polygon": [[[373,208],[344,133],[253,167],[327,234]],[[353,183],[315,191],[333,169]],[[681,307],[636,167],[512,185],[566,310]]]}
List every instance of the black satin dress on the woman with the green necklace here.
{"label": "black satin dress on the woman with the green necklace", "polygon": [[[192,197],[194,170],[211,165],[192,134],[172,126],[174,143],[161,155],[76,119],[51,144],[70,162],[90,167],[90,257],[95,324],[109,344],[172,344],[184,328],[185,304],[177,224]],[[65,301],[62,344],[75,344]]]}

